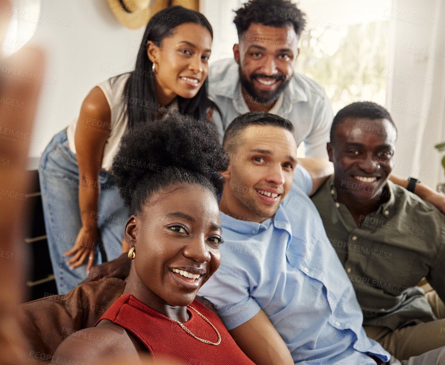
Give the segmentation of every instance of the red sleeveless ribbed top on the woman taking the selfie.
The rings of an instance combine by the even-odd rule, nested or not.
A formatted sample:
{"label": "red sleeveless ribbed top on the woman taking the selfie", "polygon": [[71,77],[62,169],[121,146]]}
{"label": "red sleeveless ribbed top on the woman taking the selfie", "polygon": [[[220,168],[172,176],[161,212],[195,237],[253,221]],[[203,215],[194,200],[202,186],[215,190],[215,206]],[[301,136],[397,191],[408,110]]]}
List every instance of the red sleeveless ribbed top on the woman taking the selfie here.
{"label": "red sleeveless ribbed top on the woman taking the selfie", "polygon": [[[219,345],[199,341],[170,318],[156,312],[130,294],[119,297],[104,313],[102,319],[113,321],[127,329],[146,346],[154,359],[171,358],[195,365],[255,365],[236,345],[223,322],[197,301],[190,305],[205,316],[218,329]],[[194,310],[187,308],[190,319],[183,325],[196,337],[218,342],[215,330]],[[96,325],[97,325],[96,323]]]}

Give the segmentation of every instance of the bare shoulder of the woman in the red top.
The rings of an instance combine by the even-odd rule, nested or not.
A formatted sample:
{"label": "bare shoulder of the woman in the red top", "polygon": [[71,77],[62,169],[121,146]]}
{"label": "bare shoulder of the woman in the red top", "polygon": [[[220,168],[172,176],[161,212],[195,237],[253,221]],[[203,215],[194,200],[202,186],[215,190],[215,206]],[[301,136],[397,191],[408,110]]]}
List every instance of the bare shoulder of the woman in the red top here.
{"label": "bare shoulder of the woman in the red top", "polygon": [[67,337],[57,348],[52,361],[94,364],[109,357],[138,358],[141,349],[131,337],[121,326],[102,320],[97,327],[82,329]]}

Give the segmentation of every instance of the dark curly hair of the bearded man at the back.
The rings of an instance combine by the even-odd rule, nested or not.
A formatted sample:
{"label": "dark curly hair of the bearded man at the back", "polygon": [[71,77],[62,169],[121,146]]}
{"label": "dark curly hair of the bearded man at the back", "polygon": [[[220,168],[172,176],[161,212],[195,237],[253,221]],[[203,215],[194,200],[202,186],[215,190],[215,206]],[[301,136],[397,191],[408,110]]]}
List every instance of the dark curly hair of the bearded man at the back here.
{"label": "dark curly hair of the bearded man at the back", "polygon": [[300,36],[306,25],[306,14],[290,0],[249,0],[235,13],[233,22],[239,37],[252,23],[275,28],[290,25],[294,27],[297,36]]}

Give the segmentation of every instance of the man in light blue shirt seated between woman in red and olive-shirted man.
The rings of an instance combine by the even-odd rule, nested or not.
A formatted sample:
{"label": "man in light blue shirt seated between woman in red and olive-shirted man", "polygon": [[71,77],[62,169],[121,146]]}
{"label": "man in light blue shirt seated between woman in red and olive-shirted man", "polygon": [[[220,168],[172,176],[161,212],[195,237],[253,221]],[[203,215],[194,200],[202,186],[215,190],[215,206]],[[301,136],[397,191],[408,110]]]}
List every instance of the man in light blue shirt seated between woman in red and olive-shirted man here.
{"label": "man in light blue shirt seated between woman in red and olive-shirted man", "polygon": [[[366,337],[354,289],[307,196],[313,184],[297,166],[292,132],[288,120],[267,113],[245,114],[227,129],[225,243],[198,295],[257,364],[383,364],[389,354]],[[277,350],[274,331],[291,357]],[[406,364],[436,363],[415,359]]]}

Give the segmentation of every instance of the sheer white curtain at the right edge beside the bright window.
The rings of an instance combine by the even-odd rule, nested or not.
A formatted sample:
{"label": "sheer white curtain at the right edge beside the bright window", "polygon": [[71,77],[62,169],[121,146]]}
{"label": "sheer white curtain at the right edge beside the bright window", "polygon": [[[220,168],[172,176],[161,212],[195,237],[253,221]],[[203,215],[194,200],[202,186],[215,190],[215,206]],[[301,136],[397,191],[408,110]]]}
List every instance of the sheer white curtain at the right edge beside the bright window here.
{"label": "sheer white curtain at the right edge beside the bright window", "polygon": [[392,22],[388,68],[374,72],[387,80],[399,132],[394,172],[435,189],[445,181],[434,148],[445,140],[445,1],[393,0],[384,16]]}

